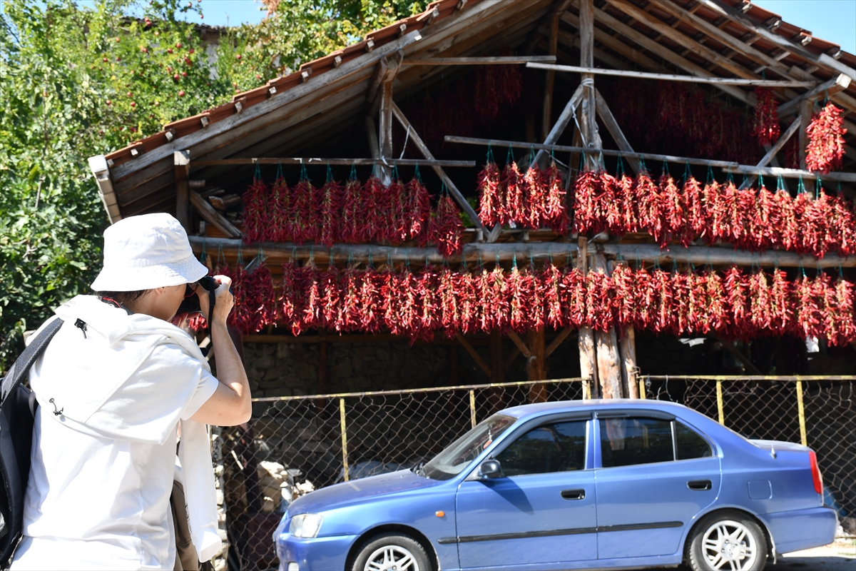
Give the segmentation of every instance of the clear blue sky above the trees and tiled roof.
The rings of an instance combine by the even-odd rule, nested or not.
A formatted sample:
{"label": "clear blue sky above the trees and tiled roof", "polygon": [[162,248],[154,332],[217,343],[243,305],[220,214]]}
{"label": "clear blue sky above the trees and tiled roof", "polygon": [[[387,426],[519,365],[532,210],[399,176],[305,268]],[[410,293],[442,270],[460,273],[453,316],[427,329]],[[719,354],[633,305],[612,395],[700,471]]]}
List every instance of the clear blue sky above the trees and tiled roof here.
{"label": "clear blue sky above the trees and tiled roof", "polygon": [[[288,0],[286,0],[288,1]],[[856,53],[856,0],[754,0],[758,6],[775,12],[794,26],[810,30],[818,38],[841,45]],[[202,0],[202,14],[190,21],[211,26],[237,26],[257,23],[265,17],[258,0]]]}

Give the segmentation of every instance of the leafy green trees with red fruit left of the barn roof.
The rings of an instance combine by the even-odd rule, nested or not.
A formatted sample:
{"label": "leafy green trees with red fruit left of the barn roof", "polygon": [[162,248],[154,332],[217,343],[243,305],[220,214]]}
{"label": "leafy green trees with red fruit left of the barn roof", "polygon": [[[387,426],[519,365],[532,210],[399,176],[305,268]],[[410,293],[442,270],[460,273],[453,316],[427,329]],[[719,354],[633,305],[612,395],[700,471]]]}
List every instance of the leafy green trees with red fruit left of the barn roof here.
{"label": "leafy green trees with red fruit left of the barn roof", "polygon": [[[216,58],[178,0],[0,0],[0,370],[89,292],[108,224],[86,158],[229,100],[427,2],[269,0]],[[131,17],[130,15],[140,15]]]}

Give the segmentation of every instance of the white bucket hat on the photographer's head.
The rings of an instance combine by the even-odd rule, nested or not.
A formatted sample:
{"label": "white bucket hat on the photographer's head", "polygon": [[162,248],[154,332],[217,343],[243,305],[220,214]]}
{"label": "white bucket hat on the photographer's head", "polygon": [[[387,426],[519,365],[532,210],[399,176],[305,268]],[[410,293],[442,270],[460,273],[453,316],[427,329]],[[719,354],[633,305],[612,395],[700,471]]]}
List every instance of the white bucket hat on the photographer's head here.
{"label": "white bucket hat on the photographer's head", "polygon": [[95,291],[137,291],[193,283],[208,268],[193,255],[187,232],[169,214],[128,217],[104,230],[104,268]]}

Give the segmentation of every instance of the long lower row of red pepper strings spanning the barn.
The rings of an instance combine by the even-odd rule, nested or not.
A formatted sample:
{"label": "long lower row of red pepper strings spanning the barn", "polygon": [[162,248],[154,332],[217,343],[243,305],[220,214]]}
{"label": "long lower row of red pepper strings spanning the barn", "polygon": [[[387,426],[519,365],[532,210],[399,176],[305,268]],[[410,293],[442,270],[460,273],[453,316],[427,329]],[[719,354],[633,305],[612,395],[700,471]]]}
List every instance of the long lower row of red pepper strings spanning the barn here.
{"label": "long lower row of red pepper strings spanning the barn", "polygon": [[409,264],[282,265],[278,283],[264,263],[247,273],[219,270],[235,279],[232,324],[245,333],[278,324],[304,330],[377,332],[412,339],[514,330],[549,324],[555,329],[609,330],[633,326],[674,335],[718,333],[747,339],[762,335],[825,337],[830,345],[856,340],[853,283],[818,272],[794,281],[784,271],[663,271],[620,264],[609,276],[552,263],[488,271],[479,265],[452,270]]}

